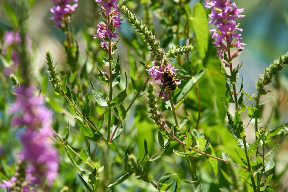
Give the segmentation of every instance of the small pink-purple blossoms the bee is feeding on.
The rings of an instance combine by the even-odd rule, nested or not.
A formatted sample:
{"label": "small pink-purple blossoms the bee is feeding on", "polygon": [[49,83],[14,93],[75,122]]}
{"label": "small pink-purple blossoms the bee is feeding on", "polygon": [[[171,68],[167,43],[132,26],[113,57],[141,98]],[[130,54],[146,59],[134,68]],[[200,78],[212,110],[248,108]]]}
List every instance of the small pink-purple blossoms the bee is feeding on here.
{"label": "small pink-purple blossoms the bee is feeding on", "polygon": [[[166,64],[165,69],[163,69],[163,67],[161,65],[159,67],[156,66],[156,61],[153,61],[152,64],[153,64],[153,66],[150,69],[146,69],[146,71],[149,72],[149,75],[151,77],[155,77],[154,80],[156,80],[156,82],[159,83],[161,85],[161,87],[162,87],[162,83],[164,83],[164,79],[162,77],[163,71],[168,71],[168,72],[171,72],[172,74],[174,74],[175,71],[180,70],[180,69],[175,69],[173,66],[171,66],[170,62],[168,62]],[[176,82],[176,83],[179,85],[181,83],[181,80]],[[169,94],[166,94],[164,91],[162,97],[164,97],[163,101],[167,101],[169,98]]]}

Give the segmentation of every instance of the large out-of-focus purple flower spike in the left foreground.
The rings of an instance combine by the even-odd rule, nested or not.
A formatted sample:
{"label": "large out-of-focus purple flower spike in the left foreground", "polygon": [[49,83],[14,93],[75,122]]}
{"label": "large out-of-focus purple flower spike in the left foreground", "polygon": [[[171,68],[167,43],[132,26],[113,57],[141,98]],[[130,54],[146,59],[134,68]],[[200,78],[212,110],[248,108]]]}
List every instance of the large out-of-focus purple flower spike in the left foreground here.
{"label": "large out-of-focus purple flower spike in the left foreground", "polygon": [[[41,96],[33,95],[33,87],[18,87],[17,100],[10,108],[13,126],[26,126],[25,132],[20,134],[24,147],[19,154],[20,161],[26,163],[26,183],[38,186],[47,179],[51,185],[58,175],[57,149],[53,148],[50,136],[53,135],[51,126],[52,112],[44,106]],[[7,181],[6,187],[13,180]],[[4,185],[1,187],[5,187]]]}

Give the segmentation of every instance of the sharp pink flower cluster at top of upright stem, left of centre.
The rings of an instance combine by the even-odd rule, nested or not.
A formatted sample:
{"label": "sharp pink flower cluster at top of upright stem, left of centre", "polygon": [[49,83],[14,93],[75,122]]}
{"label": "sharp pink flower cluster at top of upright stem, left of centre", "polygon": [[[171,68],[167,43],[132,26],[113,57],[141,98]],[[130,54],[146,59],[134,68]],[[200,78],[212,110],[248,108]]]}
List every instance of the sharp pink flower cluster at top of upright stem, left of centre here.
{"label": "sharp pink flower cluster at top of upright stem, left of centre", "polygon": [[[97,3],[101,3],[101,11],[103,15],[109,16],[109,23],[106,25],[104,22],[99,22],[97,25],[97,35],[94,35],[93,39],[99,38],[103,39],[105,41],[111,41],[112,38],[117,38],[118,33],[114,33],[115,28],[118,28],[118,31],[120,31],[121,23],[123,19],[120,19],[120,11],[118,10],[118,6],[116,5],[118,0],[111,0],[107,2],[103,2],[102,0],[95,0]],[[111,7],[114,9],[111,11]],[[103,42],[102,47],[107,50],[106,47],[107,42]],[[113,44],[113,42],[111,43]]]}

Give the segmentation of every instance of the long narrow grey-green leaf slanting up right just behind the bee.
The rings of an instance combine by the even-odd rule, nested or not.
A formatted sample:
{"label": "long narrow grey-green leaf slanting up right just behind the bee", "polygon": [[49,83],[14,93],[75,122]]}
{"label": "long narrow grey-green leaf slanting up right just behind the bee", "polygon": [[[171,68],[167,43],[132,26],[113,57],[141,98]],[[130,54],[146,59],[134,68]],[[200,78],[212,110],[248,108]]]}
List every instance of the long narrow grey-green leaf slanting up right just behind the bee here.
{"label": "long narrow grey-green leaf slanting up right just behind the bee", "polygon": [[182,90],[173,98],[174,103],[180,102],[185,95],[193,88],[193,85],[206,73],[207,69],[201,69],[198,73],[192,77],[182,88]]}

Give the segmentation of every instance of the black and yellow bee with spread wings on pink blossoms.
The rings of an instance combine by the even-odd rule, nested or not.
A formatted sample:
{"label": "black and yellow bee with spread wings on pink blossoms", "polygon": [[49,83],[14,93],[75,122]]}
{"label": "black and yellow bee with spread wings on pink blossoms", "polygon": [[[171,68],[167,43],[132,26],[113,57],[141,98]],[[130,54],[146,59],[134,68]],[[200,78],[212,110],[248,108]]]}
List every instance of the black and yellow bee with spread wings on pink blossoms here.
{"label": "black and yellow bee with spread wings on pink blossoms", "polygon": [[[165,69],[165,67],[164,67],[164,69]],[[166,87],[167,87],[167,89],[169,91],[175,91],[177,89],[177,87],[178,87],[178,83],[177,82],[179,82],[180,79],[185,79],[185,80],[192,79],[190,77],[176,76],[175,73],[172,73],[169,70],[162,71],[162,77],[163,77],[162,78],[163,80],[161,80],[161,81],[162,81],[163,85],[162,85],[162,89],[160,91],[160,95],[159,95],[158,99],[162,97],[163,92],[164,92]],[[177,79],[174,79],[174,78],[177,78]]]}

